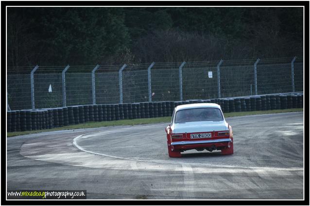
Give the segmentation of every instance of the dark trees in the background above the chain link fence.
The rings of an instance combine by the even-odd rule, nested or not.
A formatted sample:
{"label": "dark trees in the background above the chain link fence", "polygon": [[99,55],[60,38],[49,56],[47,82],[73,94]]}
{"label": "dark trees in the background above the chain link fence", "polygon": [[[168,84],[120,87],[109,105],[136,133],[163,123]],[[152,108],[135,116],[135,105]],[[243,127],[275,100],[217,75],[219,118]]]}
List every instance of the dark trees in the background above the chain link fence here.
{"label": "dark trees in the background above the chain link fence", "polygon": [[8,66],[302,55],[298,7],[9,7]]}

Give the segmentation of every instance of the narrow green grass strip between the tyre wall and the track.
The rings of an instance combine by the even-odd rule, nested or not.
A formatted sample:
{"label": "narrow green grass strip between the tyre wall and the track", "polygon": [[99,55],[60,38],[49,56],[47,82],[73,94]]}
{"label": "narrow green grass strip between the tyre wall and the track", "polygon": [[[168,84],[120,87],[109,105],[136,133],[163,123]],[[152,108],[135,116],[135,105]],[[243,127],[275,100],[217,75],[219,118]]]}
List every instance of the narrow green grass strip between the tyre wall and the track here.
{"label": "narrow green grass strip between the tyre wall and the track", "polygon": [[[224,116],[235,117],[235,116],[284,113],[284,112],[295,112],[295,111],[303,111],[303,108],[293,108],[293,109],[286,109],[286,110],[268,110],[268,111],[229,112],[229,113],[224,113]],[[25,134],[34,134],[34,133],[47,132],[47,131],[57,131],[57,130],[64,130],[64,129],[82,129],[82,128],[111,127],[111,126],[123,126],[123,125],[142,125],[142,124],[154,124],[154,123],[161,123],[161,122],[169,123],[170,121],[171,121],[171,117],[156,117],[156,118],[145,118],[145,119],[126,119],[126,120],[117,120],[117,121],[87,122],[85,124],[69,125],[65,127],[56,127],[52,129],[8,132],[7,137],[13,137],[13,136],[25,135]]]}

